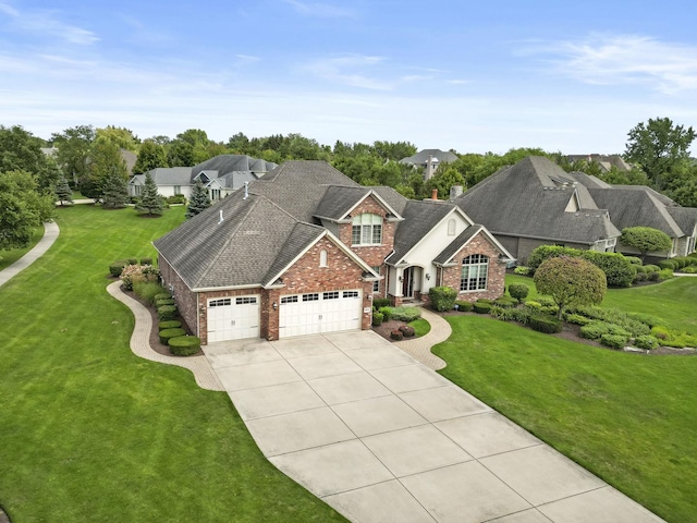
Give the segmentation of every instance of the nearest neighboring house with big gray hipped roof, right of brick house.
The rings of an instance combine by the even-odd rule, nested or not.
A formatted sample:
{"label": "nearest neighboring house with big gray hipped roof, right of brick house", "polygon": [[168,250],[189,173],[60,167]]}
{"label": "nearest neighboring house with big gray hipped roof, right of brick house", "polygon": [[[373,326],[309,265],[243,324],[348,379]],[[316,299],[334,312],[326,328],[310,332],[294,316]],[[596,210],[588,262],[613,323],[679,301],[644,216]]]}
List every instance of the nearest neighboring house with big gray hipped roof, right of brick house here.
{"label": "nearest neighboring house with big gray hipped roof, right of brick house", "polygon": [[523,263],[539,245],[613,251],[621,234],[585,185],[542,157],[500,169],[454,202]]}

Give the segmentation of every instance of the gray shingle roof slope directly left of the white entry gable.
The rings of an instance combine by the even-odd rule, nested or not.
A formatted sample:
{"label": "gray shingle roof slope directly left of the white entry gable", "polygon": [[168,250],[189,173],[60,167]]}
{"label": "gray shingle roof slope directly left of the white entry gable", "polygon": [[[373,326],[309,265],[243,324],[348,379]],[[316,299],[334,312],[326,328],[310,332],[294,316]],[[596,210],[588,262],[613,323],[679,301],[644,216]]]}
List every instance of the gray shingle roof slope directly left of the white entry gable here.
{"label": "gray shingle roof slope directly left of the white entry gable", "polygon": [[455,209],[449,202],[407,200],[402,212],[404,222],[396,228],[394,234],[394,254],[388,263],[396,265],[428,234],[428,232],[445,216]]}

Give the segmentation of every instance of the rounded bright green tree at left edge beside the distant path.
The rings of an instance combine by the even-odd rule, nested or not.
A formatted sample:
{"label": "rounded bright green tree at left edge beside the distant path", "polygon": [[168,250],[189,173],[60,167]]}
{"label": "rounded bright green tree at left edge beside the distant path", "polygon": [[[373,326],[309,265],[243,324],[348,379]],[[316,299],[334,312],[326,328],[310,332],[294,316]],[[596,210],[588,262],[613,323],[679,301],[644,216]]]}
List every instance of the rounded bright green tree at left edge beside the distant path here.
{"label": "rounded bright green tree at left edge beside the distant path", "polygon": [[0,172],[0,250],[26,247],[35,227],[53,217],[51,196],[39,194],[27,171]]}

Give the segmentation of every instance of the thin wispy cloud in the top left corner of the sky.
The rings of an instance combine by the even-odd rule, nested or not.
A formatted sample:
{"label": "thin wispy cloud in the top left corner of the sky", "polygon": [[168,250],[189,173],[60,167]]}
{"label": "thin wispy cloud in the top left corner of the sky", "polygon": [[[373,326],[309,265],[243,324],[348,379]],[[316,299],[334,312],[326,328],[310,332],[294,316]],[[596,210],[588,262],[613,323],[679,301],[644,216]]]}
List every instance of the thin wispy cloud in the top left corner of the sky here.
{"label": "thin wispy cloud in the top left corner of the sky", "polygon": [[57,11],[19,11],[8,3],[0,3],[0,11],[11,17],[11,27],[21,33],[38,37],[49,35],[82,46],[99,40],[91,31],[62,22]]}

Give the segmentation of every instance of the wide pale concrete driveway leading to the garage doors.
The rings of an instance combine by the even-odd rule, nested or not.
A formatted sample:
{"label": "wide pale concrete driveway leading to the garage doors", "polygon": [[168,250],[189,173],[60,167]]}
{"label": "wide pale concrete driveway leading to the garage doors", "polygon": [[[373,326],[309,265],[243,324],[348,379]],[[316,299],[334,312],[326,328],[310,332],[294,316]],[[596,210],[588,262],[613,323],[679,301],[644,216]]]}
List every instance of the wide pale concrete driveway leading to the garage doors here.
{"label": "wide pale concrete driveway leading to the garage doors", "polygon": [[371,331],[205,353],[268,460],[351,521],[662,521]]}

